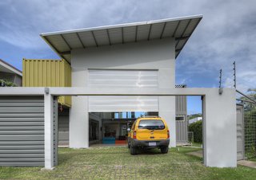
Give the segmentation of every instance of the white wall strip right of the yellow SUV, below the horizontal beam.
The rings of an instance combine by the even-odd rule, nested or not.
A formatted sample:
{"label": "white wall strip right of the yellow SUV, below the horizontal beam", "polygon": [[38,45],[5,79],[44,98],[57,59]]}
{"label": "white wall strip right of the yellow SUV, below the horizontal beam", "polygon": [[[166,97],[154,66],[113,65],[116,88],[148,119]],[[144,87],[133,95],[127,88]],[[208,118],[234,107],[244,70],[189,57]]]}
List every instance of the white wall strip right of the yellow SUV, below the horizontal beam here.
{"label": "white wall strip right of the yellow SUV, below the horizontal beam", "polygon": [[159,116],[166,120],[169,127],[169,147],[176,147],[175,96],[159,96]]}

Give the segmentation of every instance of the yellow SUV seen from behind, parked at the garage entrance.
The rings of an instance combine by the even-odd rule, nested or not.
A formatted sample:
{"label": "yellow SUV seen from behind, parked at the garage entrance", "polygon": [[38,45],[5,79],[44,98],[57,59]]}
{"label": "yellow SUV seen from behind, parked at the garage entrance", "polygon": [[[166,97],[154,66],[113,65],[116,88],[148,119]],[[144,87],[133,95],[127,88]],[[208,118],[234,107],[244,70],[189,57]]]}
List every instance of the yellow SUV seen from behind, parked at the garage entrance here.
{"label": "yellow SUV seen from behind, parked at the garage entrance", "polygon": [[131,155],[137,155],[138,148],[159,148],[162,153],[169,150],[170,132],[166,121],[161,117],[138,118],[128,131],[128,148]]}

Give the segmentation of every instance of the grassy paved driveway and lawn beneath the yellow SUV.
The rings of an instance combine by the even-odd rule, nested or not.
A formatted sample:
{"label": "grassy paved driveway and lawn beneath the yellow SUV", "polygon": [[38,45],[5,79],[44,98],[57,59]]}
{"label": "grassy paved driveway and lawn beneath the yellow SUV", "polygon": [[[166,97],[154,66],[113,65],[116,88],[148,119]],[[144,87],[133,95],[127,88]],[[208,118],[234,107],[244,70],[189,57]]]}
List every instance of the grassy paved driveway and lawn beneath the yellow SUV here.
{"label": "grassy paved driveway and lawn beneath the yellow SUV", "polygon": [[[179,151],[178,151],[179,149]],[[59,149],[54,170],[40,167],[0,167],[0,179],[255,179],[256,170],[210,168],[202,159],[186,155],[196,148],[171,148],[166,155],[158,150],[130,155],[125,147],[83,150]]]}

